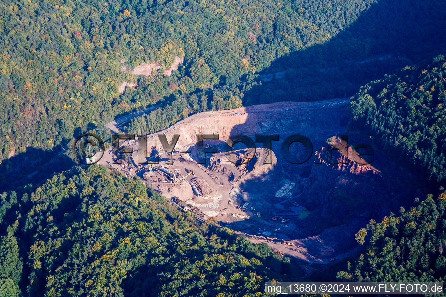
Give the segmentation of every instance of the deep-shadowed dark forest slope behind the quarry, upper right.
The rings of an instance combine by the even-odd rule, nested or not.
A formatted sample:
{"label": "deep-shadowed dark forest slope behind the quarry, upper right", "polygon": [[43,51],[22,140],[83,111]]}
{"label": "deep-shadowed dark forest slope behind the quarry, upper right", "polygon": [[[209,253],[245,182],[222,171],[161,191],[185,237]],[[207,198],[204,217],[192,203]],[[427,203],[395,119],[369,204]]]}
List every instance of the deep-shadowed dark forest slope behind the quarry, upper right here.
{"label": "deep-shadowed dark forest slope behind the quarry, upper right", "polygon": [[345,98],[359,86],[444,53],[444,1],[379,0],[323,44],[289,53],[260,73],[286,70],[255,85],[245,104]]}

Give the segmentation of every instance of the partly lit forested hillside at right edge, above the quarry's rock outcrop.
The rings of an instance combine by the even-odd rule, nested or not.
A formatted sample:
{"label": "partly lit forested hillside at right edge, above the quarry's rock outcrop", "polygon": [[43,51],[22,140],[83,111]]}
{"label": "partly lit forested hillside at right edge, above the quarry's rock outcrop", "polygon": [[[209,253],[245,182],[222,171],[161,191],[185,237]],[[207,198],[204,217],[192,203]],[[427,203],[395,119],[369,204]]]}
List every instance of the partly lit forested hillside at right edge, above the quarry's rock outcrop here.
{"label": "partly lit forested hillside at right edge, above the quarry's rock outcrop", "polygon": [[434,179],[446,178],[445,77],[441,55],[368,83],[351,102],[352,128],[365,127],[400,159],[426,168]]}

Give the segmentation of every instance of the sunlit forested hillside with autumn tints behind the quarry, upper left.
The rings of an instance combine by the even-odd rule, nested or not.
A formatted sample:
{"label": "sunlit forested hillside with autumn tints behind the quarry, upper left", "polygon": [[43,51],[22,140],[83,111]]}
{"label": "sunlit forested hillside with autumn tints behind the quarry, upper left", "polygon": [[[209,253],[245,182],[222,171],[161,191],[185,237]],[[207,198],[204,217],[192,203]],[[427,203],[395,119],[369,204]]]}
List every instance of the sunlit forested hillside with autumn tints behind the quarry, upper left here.
{"label": "sunlit forested hillside with autumn tints behind the quarry, upper left", "polygon": [[[1,158],[14,148],[51,149],[160,100],[238,84],[277,57],[330,39],[373,2],[1,1]],[[185,61],[171,76],[123,71],[148,61],[169,66],[175,56]],[[136,91],[120,95],[123,81],[137,82]],[[215,95],[224,108],[241,104],[232,90]]]}

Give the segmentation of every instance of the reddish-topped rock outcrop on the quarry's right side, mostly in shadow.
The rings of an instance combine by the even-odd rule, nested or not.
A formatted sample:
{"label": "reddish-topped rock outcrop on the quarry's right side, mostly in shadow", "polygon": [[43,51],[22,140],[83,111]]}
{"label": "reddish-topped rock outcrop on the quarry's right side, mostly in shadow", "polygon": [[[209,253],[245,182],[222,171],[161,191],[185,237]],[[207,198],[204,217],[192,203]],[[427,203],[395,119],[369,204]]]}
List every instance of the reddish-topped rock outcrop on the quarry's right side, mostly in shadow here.
{"label": "reddish-topped rock outcrop on the quarry's right side, mostly in shadow", "polygon": [[[351,148],[348,158],[340,155],[331,160],[328,146],[316,152],[315,164],[308,177],[309,187],[299,197],[299,203],[312,211],[309,220],[313,217],[314,229],[330,227],[321,225],[321,216],[330,218],[330,224],[336,226],[345,224],[351,217],[358,216],[358,213],[363,213],[364,217],[373,217],[373,213],[385,207],[376,203],[377,196],[387,194],[380,171],[371,165],[356,163],[353,161],[355,158]],[[339,164],[333,165],[328,161]]]}

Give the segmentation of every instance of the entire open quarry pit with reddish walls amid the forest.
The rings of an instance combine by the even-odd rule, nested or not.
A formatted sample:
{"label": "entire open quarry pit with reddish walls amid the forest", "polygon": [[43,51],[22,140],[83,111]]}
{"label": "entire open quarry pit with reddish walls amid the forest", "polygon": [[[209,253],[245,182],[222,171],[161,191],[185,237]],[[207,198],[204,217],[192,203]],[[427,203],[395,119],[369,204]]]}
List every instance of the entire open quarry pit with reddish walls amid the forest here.
{"label": "entire open quarry pit with reddish walls amid the forest", "polygon": [[[116,154],[110,150],[99,163],[139,176],[198,220],[213,218],[255,243],[265,242],[277,252],[305,261],[304,266],[339,262],[357,249],[354,234],[367,223],[363,217],[374,215],[363,204],[383,194],[380,171],[353,162],[351,148],[346,149],[348,156],[342,150],[329,156],[330,146],[342,145],[335,143],[340,139],[337,135],[347,133],[348,102],[346,98],[279,102],[194,114],[146,136],[146,161],[159,159],[158,164],[140,164],[138,139],[121,141],[133,148],[130,162],[114,164]],[[172,154],[163,149],[158,134],[165,134],[169,142],[173,134],[180,134]],[[217,149],[206,154],[204,164],[198,163],[198,134],[219,135],[204,140],[205,148]],[[225,151],[227,139],[238,134],[252,139],[256,134],[278,134],[280,139],[272,142],[271,150],[260,142],[255,151],[241,143],[232,152]],[[292,134],[303,134],[313,144],[312,157],[303,164],[291,164],[281,155],[281,141]],[[333,143],[327,143],[330,140]],[[293,144],[290,151],[299,155],[303,149]],[[228,160],[230,154],[236,164]],[[271,163],[265,164],[268,155]],[[327,158],[339,164],[325,162]],[[388,210],[385,203],[376,207],[377,212]]]}

